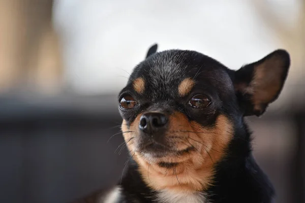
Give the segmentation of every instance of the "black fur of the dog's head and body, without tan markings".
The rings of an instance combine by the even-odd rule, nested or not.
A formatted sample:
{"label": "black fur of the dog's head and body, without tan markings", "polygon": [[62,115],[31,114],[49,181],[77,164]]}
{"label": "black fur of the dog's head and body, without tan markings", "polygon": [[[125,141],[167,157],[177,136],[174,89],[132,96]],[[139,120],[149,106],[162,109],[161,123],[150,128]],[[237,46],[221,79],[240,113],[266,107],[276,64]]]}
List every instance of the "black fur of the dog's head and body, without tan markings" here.
{"label": "black fur of the dog's head and body, without tan markings", "polygon": [[[169,50],[155,53],[156,51],[157,45],[149,49],[147,58],[135,67],[127,86],[119,94],[119,101],[123,96],[131,94],[139,104],[131,110],[119,110],[127,125],[130,125],[139,113],[155,110],[167,114],[179,111],[187,115],[189,120],[195,120],[206,127],[213,126],[218,115],[225,115],[234,126],[234,137],[227,155],[215,166],[217,173],[214,186],[204,191],[208,202],[271,202],[275,192],[252,156],[251,133],[243,119],[244,116],[255,114],[251,112],[252,95],[236,92],[234,83],[242,81],[250,84],[254,76],[254,66],[277,54],[283,60],[285,69],[284,75],[279,76],[283,85],[290,64],[288,53],[278,50],[235,72],[215,59],[195,51]],[[145,80],[143,94],[135,92],[132,87],[133,81],[138,77]],[[190,95],[181,98],[178,96],[178,85],[187,77],[193,78],[196,85]],[[270,102],[279,96],[281,90],[282,88]],[[198,93],[203,93],[212,100],[206,109],[193,109],[186,105],[187,101]],[[160,164],[162,167],[172,166],[167,163]],[[120,183],[123,190],[118,202],[154,201],[158,191],[145,185],[137,167],[137,163],[131,159],[127,173]]]}

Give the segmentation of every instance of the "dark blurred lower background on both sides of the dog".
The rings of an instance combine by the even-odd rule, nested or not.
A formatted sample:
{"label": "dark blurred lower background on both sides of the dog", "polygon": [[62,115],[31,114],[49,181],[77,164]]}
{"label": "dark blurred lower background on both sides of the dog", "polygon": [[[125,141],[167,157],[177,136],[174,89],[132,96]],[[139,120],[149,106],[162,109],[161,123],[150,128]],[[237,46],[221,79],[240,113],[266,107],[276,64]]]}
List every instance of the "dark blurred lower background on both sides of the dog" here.
{"label": "dark blurred lower background on both sides of the dog", "polygon": [[[2,96],[0,202],[70,202],[111,187],[127,160],[120,123],[112,95]],[[250,125],[276,202],[305,202],[305,114],[270,112]]]}

